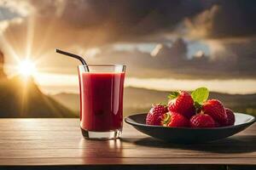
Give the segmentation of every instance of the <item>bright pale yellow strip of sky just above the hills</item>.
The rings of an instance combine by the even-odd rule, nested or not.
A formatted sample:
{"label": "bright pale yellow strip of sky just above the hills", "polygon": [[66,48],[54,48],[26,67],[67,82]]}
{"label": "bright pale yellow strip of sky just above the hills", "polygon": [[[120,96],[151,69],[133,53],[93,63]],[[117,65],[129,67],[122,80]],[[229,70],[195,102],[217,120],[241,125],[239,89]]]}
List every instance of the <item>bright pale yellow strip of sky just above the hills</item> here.
{"label": "bright pale yellow strip of sky just above the hills", "polygon": [[[46,94],[79,93],[79,78],[77,75],[38,73],[35,77],[41,89]],[[148,88],[160,91],[183,89],[191,91],[198,87],[207,87],[211,91],[228,94],[253,94],[256,80],[230,79],[230,80],[189,80],[165,78],[137,78],[126,77],[125,87]]]}

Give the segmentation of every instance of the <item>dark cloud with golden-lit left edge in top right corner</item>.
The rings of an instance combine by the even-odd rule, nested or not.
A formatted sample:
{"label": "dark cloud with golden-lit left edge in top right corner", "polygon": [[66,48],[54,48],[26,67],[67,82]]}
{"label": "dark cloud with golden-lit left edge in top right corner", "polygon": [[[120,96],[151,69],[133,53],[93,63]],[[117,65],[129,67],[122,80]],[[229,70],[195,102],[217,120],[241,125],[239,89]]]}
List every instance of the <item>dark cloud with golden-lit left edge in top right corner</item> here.
{"label": "dark cloud with golden-lit left edge in top right corner", "polygon": [[256,36],[255,16],[256,1],[219,1],[185,25],[194,37],[251,38]]}

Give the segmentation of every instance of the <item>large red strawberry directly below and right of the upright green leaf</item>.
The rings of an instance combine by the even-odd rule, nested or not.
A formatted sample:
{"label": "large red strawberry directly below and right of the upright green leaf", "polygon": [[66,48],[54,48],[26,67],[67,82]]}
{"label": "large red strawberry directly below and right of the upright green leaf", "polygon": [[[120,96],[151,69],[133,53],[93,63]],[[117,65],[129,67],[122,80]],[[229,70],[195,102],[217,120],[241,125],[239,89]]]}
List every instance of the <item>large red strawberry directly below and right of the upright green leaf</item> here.
{"label": "large red strawberry directly below and right of the upright green leaf", "polygon": [[202,105],[203,113],[212,116],[215,122],[220,126],[225,125],[227,122],[227,114],[224,105],[218,99],[209,99]]}

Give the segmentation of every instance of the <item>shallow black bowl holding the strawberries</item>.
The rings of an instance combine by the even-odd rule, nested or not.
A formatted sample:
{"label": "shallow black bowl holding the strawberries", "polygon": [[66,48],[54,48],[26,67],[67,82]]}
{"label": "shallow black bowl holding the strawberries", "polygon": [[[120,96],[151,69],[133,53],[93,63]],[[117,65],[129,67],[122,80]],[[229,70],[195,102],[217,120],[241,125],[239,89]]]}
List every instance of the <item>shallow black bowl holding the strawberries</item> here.
{"label": "shallow black bowl holding the strawberries", "polygon": [[224,139],[241,132],[255,122],[255,117],[242,113],[235,113],[234,126],[213,128],[191,127],[162,127],[145,123],[146,113],[125,117],[125,122],[131,124],[138,131],[148,134],[155,139],[173,143],[205,143],[213,140]]}

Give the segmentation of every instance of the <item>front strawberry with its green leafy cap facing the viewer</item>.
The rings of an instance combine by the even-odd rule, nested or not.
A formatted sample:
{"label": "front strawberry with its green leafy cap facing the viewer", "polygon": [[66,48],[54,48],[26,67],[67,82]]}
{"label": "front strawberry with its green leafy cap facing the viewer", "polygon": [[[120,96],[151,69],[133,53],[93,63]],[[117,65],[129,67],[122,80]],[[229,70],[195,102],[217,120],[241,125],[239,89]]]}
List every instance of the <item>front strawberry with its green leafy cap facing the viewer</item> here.
{"label": "front strawberry with its green leafy cap facing the viewer", "polygon": [[166,127],[189,127],[189,120],[176,112],[170,111],[162,119],[162,125]]}

